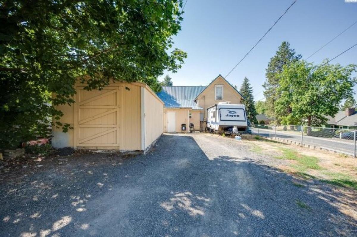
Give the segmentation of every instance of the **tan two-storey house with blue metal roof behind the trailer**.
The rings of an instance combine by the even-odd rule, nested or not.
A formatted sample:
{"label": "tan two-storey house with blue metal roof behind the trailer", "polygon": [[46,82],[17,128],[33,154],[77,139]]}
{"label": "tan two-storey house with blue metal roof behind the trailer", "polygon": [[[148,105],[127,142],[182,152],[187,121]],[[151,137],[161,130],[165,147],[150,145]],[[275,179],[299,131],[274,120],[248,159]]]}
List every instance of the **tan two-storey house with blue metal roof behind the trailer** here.
{"label": "tan two-storey house with blue metal roof behind the trailer", "polygon": [[[165,103],[164,132],[188,132],[193,123],[195,130],[204,130],[207,108],[219,102],[240,104],[242,95],[223,78],[216,77],[208,86],[163,86],[157,93]],[[181,130],[186,124],[186,130]]]}

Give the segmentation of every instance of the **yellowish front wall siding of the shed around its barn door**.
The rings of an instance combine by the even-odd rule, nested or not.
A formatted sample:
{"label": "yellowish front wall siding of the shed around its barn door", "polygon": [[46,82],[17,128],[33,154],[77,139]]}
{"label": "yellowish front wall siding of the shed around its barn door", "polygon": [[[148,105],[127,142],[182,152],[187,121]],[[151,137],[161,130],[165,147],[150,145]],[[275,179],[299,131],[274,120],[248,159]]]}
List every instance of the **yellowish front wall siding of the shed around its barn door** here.
{"label": "yellowish front wall siding of the shed around its barn door", "polygon": [[[83,86],[83,84],[76,84],[76,86]],[[120,87],[120,93],[117,94],[117,102],[119,103],[119,113],[117,115],[117,124],[119,124],[119,133],[118,134],[110,134],[111,136],[119,136],[119,149],[120,150],[141,150],[141,86],[137,84],[131,83],[111,83],[109,87]],[[77,94],[75,96],[81,96],[85,98],[86,96],[101,94],[100,91],[79,91],[77,89]],[[103,100],[112,100],[114,94],[111,94],[108,97],[104,97],[99,100],[99,102],[105,101]],[[110,104],[111,102],[108,101]],[[69,123],[71,127],[74,129],[70,129],[69,132],[63,133],[62,128],[55,128],[53,126],[53,146],[56,148],[62,148],[65,146],[77,147],[78,140],[80,137],[78,136],[78,104],[70,105],[59,105],[57,109],[61,110],[64,113],[64,116],[61,117],[61,123]],[[106,119],[106,118],[105,118]],[[98,121],[97,121],[98,122]],[[98,124],[98,123],[97,123]],[[100,124],[100,120],[99,120]],[[96,144],[95,146],[86,146],[87,149],[118,149],[117,146],[101,146],[100,144]]]}

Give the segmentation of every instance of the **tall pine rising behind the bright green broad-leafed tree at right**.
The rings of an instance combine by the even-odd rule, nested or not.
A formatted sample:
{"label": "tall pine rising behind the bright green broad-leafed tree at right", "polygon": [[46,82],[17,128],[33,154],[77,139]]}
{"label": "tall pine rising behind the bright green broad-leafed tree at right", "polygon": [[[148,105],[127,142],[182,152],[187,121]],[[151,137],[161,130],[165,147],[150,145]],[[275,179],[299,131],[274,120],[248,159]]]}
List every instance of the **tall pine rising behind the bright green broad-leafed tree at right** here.
{"label": "tall pine rising behind the bright green broad-leafed tree at right", "polygon": [[283,41],[276,51],[274,57],[270,59],[268,67],[265,69],[266,81],[263,84],[265,88],[264,96],[266,98],[266,115],[271,118],[276,118],[276,122],[280,123],[280,116],[275,111],[274,103],[279,99],[280,94],[277,92],[279,88],[278,74],[282,72],[285,65],[300,60],[301,55],[296,55],[295,50],[290,48],[290,43]]}

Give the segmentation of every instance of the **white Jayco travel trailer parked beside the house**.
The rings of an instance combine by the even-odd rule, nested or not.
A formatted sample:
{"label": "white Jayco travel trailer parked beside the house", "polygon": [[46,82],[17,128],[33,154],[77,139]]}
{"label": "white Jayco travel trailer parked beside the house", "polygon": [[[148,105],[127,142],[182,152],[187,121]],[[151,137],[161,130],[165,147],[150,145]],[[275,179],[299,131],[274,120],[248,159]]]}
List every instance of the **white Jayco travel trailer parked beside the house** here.
{"label": "white Jayco travel trailer parked beside the house", "polygon": [[247,115],[244,104],[230,104],[220,102],[207,108],[208,132],[231,132],[245,131],[248,127]]}

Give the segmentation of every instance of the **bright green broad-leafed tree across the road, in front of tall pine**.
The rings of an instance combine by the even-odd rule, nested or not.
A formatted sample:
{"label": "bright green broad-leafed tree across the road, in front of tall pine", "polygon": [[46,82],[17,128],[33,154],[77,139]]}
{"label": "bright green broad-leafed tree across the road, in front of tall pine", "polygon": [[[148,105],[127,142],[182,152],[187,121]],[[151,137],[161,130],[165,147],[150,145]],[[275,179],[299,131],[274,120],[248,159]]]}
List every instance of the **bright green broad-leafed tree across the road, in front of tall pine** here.
{"label": "bright green broad-leafed tree across the road, in front of tall pine", "polygon": [[338,112],[342,98],[352,95],[356,78],[351,74],[356,71],[356,65],[324,63],[313,66],[299,60],[284,66],[277,89],[281,96],[275,102],[283,124],[307,121],[308,126],[321,125],[326,122],[326,115]]}

